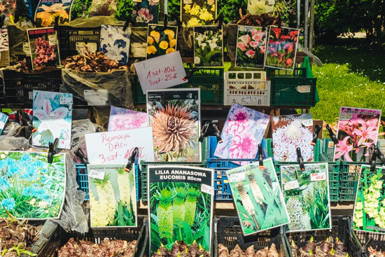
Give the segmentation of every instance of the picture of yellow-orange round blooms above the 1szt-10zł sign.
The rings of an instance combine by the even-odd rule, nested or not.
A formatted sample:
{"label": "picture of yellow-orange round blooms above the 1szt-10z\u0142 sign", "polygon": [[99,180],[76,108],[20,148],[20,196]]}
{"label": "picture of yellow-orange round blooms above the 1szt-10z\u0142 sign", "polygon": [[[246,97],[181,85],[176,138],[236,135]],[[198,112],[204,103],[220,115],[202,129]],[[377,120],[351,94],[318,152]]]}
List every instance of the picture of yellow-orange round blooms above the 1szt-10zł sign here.
{"label": "picture of yellow-orange round blooms above the 1szt-10z\u0142 sign", "polygon": [[178,27],[148,25],[147,59],[167,55],[176,51]]}

